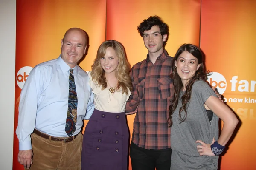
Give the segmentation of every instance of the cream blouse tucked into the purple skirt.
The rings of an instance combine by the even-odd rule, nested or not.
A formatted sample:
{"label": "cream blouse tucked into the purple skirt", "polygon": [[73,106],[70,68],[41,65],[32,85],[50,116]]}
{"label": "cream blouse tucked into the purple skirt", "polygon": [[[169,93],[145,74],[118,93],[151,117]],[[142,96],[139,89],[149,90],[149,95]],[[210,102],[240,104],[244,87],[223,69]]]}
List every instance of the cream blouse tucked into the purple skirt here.
{"label": "cream blouse tucked into the purple skirt", "polygon": [[95,109],[105,112],[124,112],[126,102],[131,95],[130,90],[128,89],[128,94],[122,93],[122,91],[115,91],[113,94],[109,91],[108,88],[102,90],[102,86],[98,86],[93,82],[91,71],[89,75],[89,84],[92,88],[94,94],[94,105]]}

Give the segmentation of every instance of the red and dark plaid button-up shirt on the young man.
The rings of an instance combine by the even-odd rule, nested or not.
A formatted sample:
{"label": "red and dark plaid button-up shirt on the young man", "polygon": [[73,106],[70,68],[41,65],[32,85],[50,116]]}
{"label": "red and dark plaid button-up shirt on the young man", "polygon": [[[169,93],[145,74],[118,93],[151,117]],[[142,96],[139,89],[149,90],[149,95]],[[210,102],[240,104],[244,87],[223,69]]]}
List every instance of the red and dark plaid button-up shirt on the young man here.
{"label": "red and dark plaid button-up shirt on the young man", "polygon": [[168,127],[170,100],[174,95],[172,57],[164,51],[153,64],[147,59],[131,69],[134,90],[126,105],[126,113],[135,111],[132,142],[145,149],[171,147],[171,128]]}

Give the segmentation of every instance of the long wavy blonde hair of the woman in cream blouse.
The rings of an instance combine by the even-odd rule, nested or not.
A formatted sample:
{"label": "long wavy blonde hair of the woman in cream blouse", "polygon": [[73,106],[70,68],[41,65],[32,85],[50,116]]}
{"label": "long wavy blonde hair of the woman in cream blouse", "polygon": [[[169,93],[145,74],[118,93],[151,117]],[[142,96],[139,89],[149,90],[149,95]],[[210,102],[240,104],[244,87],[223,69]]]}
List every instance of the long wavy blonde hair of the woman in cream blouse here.
{"label": "long wavy blonde hair of the woman in cream blouse", "polygon": [[124,47],[120,42],[116,40],[107,40],[99,46],[96,58],[94,59],[92,65],[91,76],[93,82],[99,86],[102,85],[102,90],[107,88],[107,82],[104,74],[105,71],[100,65],[100,59],[105,56],[108,47],[113,48],[116,51],[116,55],[118,57],[118,65],[116,68],[116,78],[118,80],[117,90],[122,89],[122,93],[125,92],[128,94],[128,89],[130,89],[130,91],[133,89],[131,84],[131,77],[129,75],[131,65],[126,58]]}

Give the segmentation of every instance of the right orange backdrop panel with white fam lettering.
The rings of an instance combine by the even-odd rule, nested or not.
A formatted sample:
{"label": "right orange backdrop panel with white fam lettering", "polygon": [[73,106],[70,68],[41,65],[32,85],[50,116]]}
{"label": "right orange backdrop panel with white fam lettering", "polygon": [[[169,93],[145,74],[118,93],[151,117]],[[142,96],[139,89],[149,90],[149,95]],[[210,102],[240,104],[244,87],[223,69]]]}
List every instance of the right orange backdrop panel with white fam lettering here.
{"label": "right orange backdrop panel with white fam lettering", "polygon": [[218,89],[226,88],[227,105],[240,119],[239,130],[221,158],[221,170],[255,170],[256,1],[202,0],[201,8],[200,46],[207,69],[223,76],[212,82],[223,82]]}

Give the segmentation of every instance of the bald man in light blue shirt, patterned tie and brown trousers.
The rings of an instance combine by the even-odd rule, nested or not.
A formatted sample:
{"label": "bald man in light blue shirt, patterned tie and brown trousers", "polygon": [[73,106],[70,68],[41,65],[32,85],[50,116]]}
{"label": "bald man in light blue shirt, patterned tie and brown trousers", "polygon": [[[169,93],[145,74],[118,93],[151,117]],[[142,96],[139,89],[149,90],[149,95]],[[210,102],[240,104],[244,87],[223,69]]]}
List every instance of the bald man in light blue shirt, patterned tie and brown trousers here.
{"label": "bald man in light blue shirt, patterned tie and brown trousers", "polygon": [[61,40],[61,55],[30,72],[16,130],[18,161],[24,168],[81,170],[80,131],[94,109],[89,77],[77,65],[86,48],[85,31],[70,28]]}

